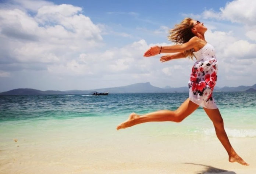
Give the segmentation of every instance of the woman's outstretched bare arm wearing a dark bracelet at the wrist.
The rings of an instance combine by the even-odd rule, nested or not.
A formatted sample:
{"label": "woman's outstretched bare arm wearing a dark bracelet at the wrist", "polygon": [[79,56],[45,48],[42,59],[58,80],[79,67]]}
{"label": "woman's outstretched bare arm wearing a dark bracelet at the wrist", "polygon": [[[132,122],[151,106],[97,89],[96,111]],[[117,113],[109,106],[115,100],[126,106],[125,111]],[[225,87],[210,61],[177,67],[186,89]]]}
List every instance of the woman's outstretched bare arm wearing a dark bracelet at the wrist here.
{"label": "woman's outstretched bare arm wearing a dark bracelet at the wrist", "polygon": [[198,45],[199,38],[192,37],[188,42],[181,45],[172,45],[172,46],[154,46],[147,50],[144,54],[145,57],[150,57],[153,55],[157,55],[160,53],[173,53],[173,52],[184,52],[186,50],[190,50]]}

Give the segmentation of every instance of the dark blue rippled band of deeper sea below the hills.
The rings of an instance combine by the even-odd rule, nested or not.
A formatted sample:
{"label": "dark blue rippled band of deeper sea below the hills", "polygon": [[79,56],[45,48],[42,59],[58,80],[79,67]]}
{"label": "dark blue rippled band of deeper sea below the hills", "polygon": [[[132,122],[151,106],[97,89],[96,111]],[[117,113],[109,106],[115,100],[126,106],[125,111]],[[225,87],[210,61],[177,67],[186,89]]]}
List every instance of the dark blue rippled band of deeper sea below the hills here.
{"label": "dark blue rippled band of deeper sea below the hills", "polygon": [[[0,121],[120,116],[131,112],[175,110],[186,98],[187,93],[0,96]],[[214,93],[214,98],[220,110],[248,109],[250,114],[256,114],[256,93]]]}

